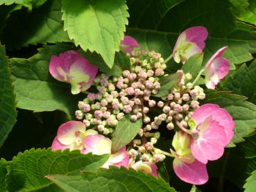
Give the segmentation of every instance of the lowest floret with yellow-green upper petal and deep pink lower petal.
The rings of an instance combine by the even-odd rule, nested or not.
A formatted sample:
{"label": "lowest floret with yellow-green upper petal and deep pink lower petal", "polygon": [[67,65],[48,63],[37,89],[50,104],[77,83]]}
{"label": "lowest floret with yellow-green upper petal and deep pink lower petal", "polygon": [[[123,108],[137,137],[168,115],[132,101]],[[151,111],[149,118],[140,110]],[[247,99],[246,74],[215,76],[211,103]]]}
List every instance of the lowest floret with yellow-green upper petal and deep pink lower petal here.
{"label": "lowest floret with yellow-green upper petal and deep pink lower petal", "polygon": [[190,184],[205,184],[208,180],[206,165],[199,162],[191,154],[190,137],[185,132],[176,132],[173,137],[174,155],[173,170],[180,180]]}

